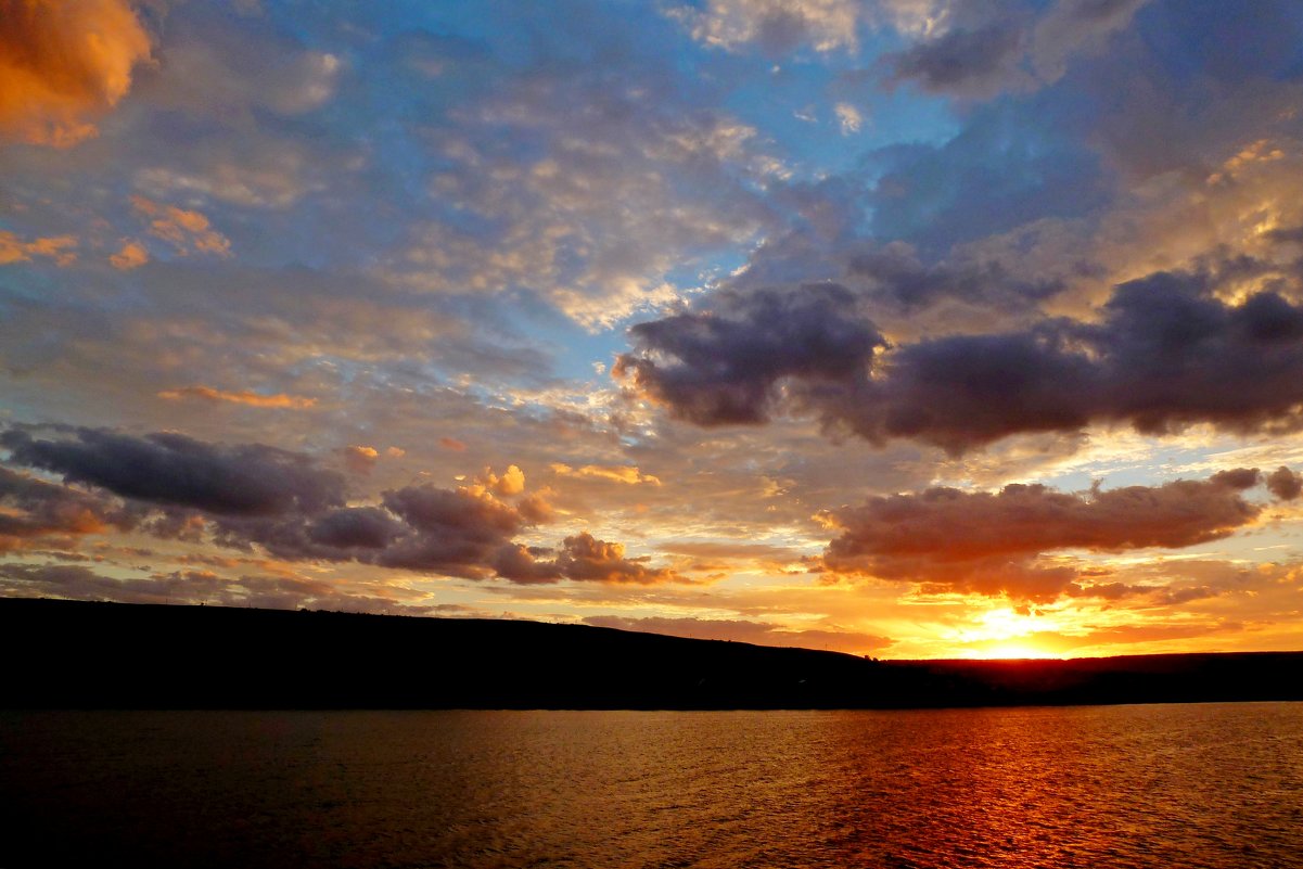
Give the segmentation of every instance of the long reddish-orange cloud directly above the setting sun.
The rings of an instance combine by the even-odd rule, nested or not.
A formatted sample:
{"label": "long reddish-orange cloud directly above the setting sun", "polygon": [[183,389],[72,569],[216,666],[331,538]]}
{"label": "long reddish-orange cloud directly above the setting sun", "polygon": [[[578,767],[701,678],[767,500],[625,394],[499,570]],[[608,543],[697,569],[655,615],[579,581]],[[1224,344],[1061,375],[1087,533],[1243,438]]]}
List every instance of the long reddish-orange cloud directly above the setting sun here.
{"label": "long reddish-orange cloud directly above the setting sun", "polygon": [[1257,519],[1243,498],[1261,474],[1235,469],[1205,481],[1061,492],[1009,485],[998,492],[936,487],[823,512],[839,532],[823,554],[839,573],[902,580],[933,590],[1052,601],[1078,591],[1079,573],[1038,556],[1065,550],[1183,548],[1229,537]]}

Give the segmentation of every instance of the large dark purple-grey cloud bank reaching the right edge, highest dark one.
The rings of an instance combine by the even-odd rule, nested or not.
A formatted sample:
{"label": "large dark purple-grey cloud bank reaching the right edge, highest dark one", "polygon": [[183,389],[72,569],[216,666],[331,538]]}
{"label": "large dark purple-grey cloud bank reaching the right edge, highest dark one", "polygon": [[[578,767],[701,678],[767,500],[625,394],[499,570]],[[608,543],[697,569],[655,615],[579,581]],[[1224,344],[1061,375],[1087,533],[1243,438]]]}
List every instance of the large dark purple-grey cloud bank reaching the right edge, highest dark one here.
{"label": "large dark purple-grey cloud bank reaching the right edge, highest dark one", "polygon": [[1274,292],[1227,304],[1213,284],[1160,272],[1118,287],[1096,323],[1045,321],[881,354],[886,341],[840,288],[731,296],[723,314],[633,327],[637,352],[615,374],[698,425],[808,412],[876,444],[908,438],[955,453],[1092,422],[1147,434],[1298,425],[1303,306]]}

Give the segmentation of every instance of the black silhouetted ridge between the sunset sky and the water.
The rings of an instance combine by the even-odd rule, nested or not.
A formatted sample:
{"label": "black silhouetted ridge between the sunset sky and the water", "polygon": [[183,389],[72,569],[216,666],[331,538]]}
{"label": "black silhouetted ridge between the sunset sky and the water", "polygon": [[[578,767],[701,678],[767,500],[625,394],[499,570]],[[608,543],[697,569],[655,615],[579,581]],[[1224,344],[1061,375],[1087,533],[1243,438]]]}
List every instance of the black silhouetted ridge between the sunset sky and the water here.
{"label": "black silhouetted ridge between the sunset sky and the water", "polygon": [[1303,700],[1303,653],[868,661],[491,619],[0,598],[8,709],[899,709]]}

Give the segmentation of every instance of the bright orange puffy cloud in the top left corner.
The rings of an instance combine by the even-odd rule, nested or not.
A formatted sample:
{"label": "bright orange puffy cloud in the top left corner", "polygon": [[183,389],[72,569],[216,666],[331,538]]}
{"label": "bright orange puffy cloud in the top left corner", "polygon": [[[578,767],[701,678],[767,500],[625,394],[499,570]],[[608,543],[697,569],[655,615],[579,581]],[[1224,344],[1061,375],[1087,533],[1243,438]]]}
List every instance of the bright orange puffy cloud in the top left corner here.
{"label": "bright orange puffy cloud in the top left corner", "polygon": [[126,0],[0,0],[0,135],[55,147],[95,135],[149,56]]}

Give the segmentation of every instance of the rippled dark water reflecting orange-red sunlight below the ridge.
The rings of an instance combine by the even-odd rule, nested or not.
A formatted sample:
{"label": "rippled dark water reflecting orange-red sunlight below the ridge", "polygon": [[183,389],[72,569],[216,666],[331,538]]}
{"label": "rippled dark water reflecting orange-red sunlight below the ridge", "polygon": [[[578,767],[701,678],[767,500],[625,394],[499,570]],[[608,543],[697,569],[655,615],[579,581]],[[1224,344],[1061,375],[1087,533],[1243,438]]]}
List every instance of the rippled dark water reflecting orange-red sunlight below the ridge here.
{"label": "rippled dark water reflecting orange-red sunlight below the ridge", "polygon": [[1303,704],[0,713],[0,866],[1303,866]]}

